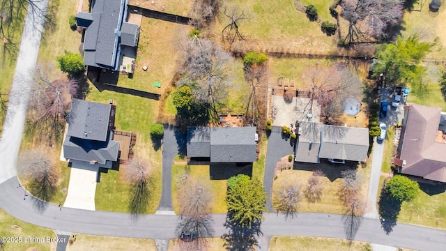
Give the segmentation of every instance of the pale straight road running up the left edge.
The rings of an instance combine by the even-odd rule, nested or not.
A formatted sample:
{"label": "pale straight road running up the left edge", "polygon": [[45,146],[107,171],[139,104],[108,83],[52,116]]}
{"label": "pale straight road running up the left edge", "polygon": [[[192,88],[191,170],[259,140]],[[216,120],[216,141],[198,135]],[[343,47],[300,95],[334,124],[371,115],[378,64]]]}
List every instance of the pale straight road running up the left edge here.
{"label": "pale straight road running up the left edge", "polygon": [[33,8],[28,8],[26,12],[20,52],[3,126],[3,138],[0,141],[0,183],[16,175],[15,163],[19,154],[47,5],[48,0],[34,1]]}

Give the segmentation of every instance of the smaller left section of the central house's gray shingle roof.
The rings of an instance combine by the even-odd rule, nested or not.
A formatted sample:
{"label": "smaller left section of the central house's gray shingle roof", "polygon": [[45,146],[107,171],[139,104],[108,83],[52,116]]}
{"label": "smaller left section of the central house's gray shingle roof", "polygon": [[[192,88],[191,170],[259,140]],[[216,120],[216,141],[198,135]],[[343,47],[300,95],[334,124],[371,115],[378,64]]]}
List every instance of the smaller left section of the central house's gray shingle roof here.
{"label": "smaller left section of the central house's gray shingle roof", "polygon": [[187,156],[210,157],[210,128],[187,128]]}

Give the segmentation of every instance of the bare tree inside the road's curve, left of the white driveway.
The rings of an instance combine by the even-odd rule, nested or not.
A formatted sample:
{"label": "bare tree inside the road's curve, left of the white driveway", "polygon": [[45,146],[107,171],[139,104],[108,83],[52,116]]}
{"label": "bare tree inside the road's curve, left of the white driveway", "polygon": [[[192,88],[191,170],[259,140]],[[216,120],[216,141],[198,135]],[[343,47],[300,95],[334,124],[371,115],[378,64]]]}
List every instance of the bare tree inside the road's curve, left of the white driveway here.
{"label": "bare tree inside the road's curve, left of the white driveway", "polygon": [[52,199],[59,181],[60,169],[49,156],[51,152],[49,149],[26,150],[17,161],[17,171],[30,180],[30,192],[43,201]]}

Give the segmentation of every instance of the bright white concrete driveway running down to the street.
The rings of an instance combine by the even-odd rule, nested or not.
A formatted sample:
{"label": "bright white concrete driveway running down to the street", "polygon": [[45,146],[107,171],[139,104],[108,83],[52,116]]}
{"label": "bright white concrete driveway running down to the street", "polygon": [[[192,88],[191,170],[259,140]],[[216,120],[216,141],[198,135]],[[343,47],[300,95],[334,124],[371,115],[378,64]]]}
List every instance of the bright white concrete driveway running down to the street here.
{"label": "bright white concrete driveway running down to the street", "polygon": [[68,195],[63,207],[95,210],[96,181],[98,167],[86,162],[73,162],[70,170]]}

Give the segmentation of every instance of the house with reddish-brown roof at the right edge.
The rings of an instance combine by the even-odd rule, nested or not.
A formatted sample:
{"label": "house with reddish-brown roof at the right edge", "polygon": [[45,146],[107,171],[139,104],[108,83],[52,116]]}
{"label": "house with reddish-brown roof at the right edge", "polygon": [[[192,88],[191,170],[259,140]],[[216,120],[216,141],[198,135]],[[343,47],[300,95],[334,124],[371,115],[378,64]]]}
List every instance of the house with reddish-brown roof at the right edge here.
{"label": "house with reddish-brown roof at the right edge", "polygon": [[420,181],[446,182],[446,115],[437,107],[405,107],[397,157],[397,172]]}

